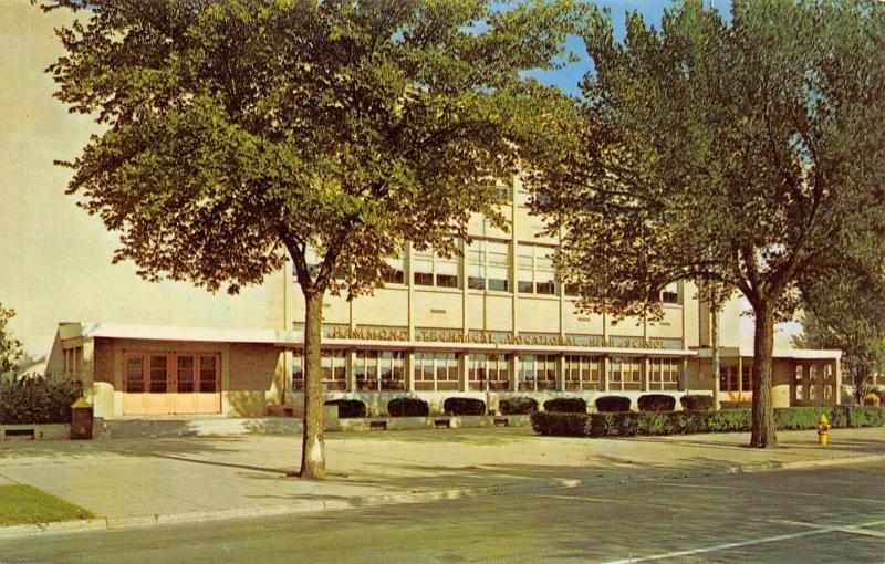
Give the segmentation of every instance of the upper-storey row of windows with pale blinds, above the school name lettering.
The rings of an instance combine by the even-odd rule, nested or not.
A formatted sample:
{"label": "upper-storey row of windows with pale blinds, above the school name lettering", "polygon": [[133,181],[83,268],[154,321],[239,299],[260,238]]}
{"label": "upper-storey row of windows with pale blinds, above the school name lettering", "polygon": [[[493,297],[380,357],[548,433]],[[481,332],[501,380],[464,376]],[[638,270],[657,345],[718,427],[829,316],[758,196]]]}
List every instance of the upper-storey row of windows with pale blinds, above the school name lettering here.
{"label": "upper-storey row of windows with pale blinds, above the school name lettering", "polygon": [[[519,243],[517,246],[517,292],[521,294],[558,295],[559,281],[554,268],[556,248],[543,244]],[[316,264],[319,257],[309,251],[309,264]],[[510,243],[475,239],[467,249],[467,288],[492,292],[512,292],[510,278]],[[405,253],[387,259],[384,282],[405,284]],[[418,286],[461,288],[458,257],[442,257],[433,249],[415,251],[412,282]],[[565,295],[575,296],[577,285],[568,283]],[[679,303],[678,285],[670,284],[662,293],[664,303]]]}

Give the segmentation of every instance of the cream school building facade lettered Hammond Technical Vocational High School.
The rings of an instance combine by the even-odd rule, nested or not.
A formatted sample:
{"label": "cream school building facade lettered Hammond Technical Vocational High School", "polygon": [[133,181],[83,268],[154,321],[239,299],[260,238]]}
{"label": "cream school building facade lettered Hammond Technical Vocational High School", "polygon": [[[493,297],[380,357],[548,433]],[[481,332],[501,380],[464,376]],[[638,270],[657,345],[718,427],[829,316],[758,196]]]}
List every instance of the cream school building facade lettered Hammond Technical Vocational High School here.
{"label": "cream school building facade lettered Hammond Technical Vocational High School", "polygon": [[[0,3],[0,302],[19,315],[25,368],[84,383],[96,415],[262,416],[303,403],[304,302],[291,267],[240,295],[148,283],[112,264],[118,233],[64,189],[96,126],[52,97],[45,69],[61,52],[64,11]],[[541,237],[518,181],[502,188],[510,229],[481,217],[461,257],[404,248],[373,296],[323,305],[326,397],[383,415],[393,397],[539,400],[600,395],[710,394],[709,315],[689,283],[665,289],[664,317],[615,322],[579,311],[558,280],[556,238]],[[749,401],[751,349],[740,302],[721,314],[723,399]],[[775,351],[777,406],[839,400],[839,353]],[[829,390],[829,391],[827,391]]]}

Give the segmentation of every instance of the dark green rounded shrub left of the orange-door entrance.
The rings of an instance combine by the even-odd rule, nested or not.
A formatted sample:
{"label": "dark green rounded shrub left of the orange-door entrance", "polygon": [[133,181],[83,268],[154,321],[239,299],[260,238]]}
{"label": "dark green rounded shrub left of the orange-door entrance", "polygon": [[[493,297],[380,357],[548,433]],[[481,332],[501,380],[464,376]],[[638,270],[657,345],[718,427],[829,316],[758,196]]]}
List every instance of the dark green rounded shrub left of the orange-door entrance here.
{"label": "dark green rounded shrub left of the orange-door entrance", "polygon": [[61,376],[25,374],[0,379],[0,424],[71,422],[82,385]]}

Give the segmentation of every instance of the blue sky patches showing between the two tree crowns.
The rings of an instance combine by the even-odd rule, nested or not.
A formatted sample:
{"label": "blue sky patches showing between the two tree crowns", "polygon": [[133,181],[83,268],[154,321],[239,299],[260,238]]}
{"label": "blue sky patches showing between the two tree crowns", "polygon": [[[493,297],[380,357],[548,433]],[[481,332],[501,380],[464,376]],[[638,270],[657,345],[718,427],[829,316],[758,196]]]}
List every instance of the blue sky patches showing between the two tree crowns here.
{"label": "blue sky patches showing between the two tree crowns", "polygon": [[[709,3],[710,0],[705,0]],[[664,9],[673,6],[670,0],[595,0],[596,6],[607,7],[612,10],[612,22],[615,27],[615,36],[623,40],[626,33],[624,22],[627,12],[638,11],[643,14],[646,24],[660,28],[660,18]],[[728,13],[731,9],[731,0],[714,0],[717,10]],[[530,75],[537,77],[545,84],[559,86],[569,94],[580,94],[577,84],[593,66],[584,49],[584,43],[577,36],[569,39],[566,46],[581,58],[581,61],[568,65],[565,69],[550,72],[534,72]]]}

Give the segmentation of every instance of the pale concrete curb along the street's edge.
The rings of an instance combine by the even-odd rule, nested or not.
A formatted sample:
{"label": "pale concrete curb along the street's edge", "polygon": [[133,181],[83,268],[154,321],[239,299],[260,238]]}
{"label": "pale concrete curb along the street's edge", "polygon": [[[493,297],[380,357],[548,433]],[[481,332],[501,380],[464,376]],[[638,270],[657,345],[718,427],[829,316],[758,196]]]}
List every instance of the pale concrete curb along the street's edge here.
{"label": "pale concrete curb along the street's edge", "polygon": [[188,513],[170,513],[155,515],[138,515],[129,518],[90,519],[84,521],[61,521],[41,524],[25,524],[0,526],[0,540],[27,539],[38,535],[67,534],[87,531],[117,531],[123,529],[139,529],[156,525],[170,525],[180,523],[195,523],[206,521],[222,521],[228,519],[248,519],[278,515],[294,515],[300,513],[319,513],[343,509],[365,509],[382,505],[398,505],[407,503],[428,503],[433,501],[458,500],[486,495],[503,495],[508,493],[528,493],[550,489],[572,489],[582,485],[618,485],[625,483],[656,482],[662,480],[680,480],[688,478],[704,478],[712,476],[728,476],[740,473],[778,472],[789,470],[804,470],[811,468],[827,468],[846,464],[863,464],[885,461],[885,455],[868,455],[847,458],[825,458],[820,460],[796,460],[792,462],[764,462],[759,464],[740,464],[731,467],[709,468],[679,472],[624,473],[617,476],[566,479],[555,478],[550,480],[534,480],[527,483],[503,483],[482,488],[452,488],[448,490],[412,491],[382,495],[361,495],[350,500],[306,501],[290,505],[272,505],[266,508],[238,508],[221,511],[195,511]]}

